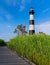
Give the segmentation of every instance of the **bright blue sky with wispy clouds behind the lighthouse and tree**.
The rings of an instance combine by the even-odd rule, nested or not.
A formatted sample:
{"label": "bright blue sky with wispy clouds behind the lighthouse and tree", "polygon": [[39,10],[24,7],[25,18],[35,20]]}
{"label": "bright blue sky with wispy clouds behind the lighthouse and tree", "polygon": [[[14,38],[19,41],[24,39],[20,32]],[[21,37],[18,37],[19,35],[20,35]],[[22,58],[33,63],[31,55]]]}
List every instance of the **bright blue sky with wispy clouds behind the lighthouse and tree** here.
{"label": "bright blue sky with wispy clouds behind the lighthouse and tree", "polygon": [[50,0],[0,0],[0,39],[15,37],[14,29],[19,24],[29,28],[29,10],[33,7],[36,33],[50,35]]}

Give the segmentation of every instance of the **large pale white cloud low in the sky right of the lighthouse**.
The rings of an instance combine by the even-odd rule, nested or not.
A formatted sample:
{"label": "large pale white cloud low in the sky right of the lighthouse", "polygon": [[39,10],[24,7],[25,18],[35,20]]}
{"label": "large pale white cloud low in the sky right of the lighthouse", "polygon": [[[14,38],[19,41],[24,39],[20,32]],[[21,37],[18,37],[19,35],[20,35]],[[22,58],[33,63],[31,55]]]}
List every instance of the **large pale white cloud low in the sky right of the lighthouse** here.
{"label": "large pale white cloud low in the sky right of the lighthouse", "polygon": [[36,30],[39,32],[44,32],[46,34],[50,34],[50,21],[42,23],[40,25],[35,25]]}

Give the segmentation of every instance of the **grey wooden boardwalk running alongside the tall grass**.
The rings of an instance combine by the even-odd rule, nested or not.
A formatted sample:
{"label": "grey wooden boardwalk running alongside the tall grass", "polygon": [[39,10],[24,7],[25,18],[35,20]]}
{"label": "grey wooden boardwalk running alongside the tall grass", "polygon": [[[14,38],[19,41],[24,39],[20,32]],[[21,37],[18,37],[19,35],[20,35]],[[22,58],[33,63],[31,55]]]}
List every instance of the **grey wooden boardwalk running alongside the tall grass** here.
{"label": "grey wooden boardwalk running alongside the tall grass", "polygon": [[0,65],[30,65],[7,47],[0,47]]}

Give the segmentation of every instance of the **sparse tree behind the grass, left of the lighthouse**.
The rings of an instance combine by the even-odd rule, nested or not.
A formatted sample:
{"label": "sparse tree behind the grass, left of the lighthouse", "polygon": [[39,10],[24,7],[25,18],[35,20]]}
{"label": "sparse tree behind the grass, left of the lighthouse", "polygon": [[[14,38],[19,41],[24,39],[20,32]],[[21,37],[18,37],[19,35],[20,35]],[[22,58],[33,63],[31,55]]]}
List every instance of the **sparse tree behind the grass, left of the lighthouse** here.
{"label": "sparse tree behind the grass, left of the lighthouse", "polygon": [[26,27],[24,25],[18,25],[17,28],[15,28],[14,33],[17,33],[18,35],[25,35],[27,33]]}

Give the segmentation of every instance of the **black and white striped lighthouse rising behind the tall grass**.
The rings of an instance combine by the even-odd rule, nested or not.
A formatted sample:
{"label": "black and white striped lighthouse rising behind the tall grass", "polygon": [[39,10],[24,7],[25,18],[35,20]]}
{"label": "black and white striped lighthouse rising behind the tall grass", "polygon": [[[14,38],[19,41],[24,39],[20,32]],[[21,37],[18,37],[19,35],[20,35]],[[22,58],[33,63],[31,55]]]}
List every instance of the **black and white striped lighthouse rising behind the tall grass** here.
{"label": "black and white striped lighthouse rising behind the tall grass", "polygon": [[35,25],[34,25],[34,10],[33,8],[29,11],[30,20],[29,20],[29,34],[32,35],[35,33]]}

